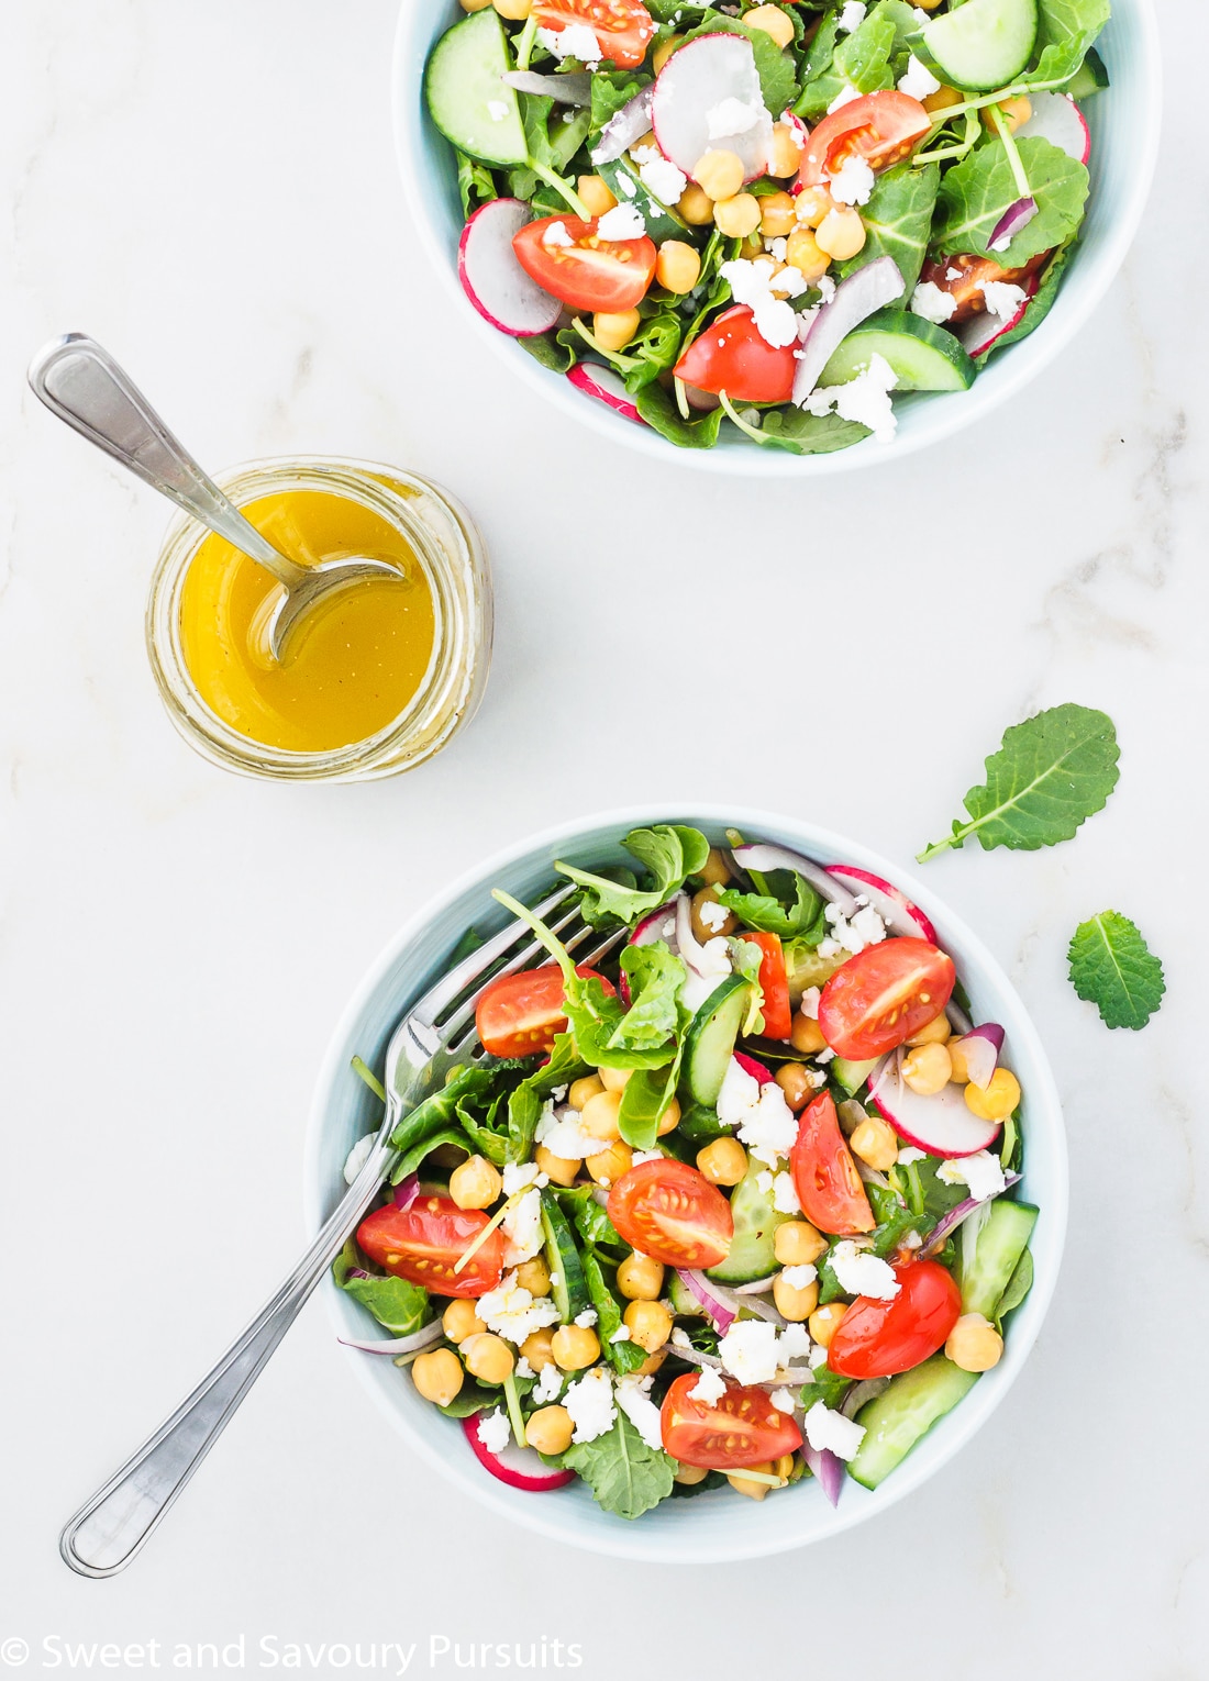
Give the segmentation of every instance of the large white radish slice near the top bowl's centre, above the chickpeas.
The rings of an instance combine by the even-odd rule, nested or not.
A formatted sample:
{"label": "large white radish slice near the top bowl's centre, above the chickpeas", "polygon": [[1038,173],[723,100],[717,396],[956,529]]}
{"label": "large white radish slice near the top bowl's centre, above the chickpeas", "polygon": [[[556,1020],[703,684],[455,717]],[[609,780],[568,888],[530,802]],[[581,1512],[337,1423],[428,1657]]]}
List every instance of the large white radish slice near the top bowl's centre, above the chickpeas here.
{"label": "large white radish slice near the top bowl's centre, above the chickpeas", "polygon": [[659,151],[691,180],[706,151],[733,151],[743,178],[755,182],[768,168],[772,118],[752,42],[745,35],[700,35],[673,52],[654,84],[651,121]]}

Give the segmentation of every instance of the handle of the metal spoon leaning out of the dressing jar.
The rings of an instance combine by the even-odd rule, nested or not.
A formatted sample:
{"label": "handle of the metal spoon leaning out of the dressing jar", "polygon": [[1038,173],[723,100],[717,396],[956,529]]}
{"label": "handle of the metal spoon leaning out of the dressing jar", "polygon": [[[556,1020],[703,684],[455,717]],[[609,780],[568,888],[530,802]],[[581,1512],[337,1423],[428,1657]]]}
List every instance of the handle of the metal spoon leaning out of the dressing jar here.
{"label": "handle of the metal spoon leaning out of the dressing jar", "polygon": [[29,383],[89,444],[224,536],[286,588],[303,583],[306,568],[281,555],[244,519],[96,340],[82,333],[54,340],[30,363]]}

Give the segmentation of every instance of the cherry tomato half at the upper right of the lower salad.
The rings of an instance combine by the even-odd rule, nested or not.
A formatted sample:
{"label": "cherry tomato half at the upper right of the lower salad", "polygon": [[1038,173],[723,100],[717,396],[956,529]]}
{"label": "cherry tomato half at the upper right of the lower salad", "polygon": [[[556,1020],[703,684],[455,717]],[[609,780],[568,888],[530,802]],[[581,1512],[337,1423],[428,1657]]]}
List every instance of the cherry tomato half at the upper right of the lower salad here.
{"label": "cherry tomato half at the upper right of the lower salad", "polygon": [[935,1020],[957,982],[930,940],[883,940],[836,970],[819,999],[819,1029],[836,1056],[884,1056]]}

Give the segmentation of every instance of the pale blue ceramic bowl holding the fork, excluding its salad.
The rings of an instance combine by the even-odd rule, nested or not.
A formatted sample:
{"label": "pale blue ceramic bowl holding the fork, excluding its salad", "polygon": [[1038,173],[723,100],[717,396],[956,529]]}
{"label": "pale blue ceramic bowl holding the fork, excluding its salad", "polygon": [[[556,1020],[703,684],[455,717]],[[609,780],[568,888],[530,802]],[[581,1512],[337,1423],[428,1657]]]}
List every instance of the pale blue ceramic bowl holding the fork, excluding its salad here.
{"label": "pale blue ceramic bowl holding the fork, excluding its salad", "polygon": [[[620,1558],[664,1563],[720,1563],[779,1553],[839,1535],[925,1483],[990,1417],[1011,1389],[1041,1328],[1063,1251],[1066,1230],[1066,1140],[1063,1116],[1049,1064],[1024,1005],[982,941],[965,928],[925,886],[901,869],[853,846],[814,824],[775,817],[770,812],[710,805],[657,807],[607,812],[535,835],[488,859],[436,898],[425,911],[400,928],[370,968],[345,1010],[319,1074],[306,1146],[306,1212],[318,1229],[335,1207],[345,1185],[341,1167],[353,1143],[380,1121],[380,1109],[350,1059],[363,1056],[377,1066],[404,1010],[441,972],[462,931],[499,926],[503,913],[491,899],[501,886],[533,903],[553,879],[553,862],[562,857],[585,867],[629,861],[620,839],[639,824],[686,822],[721,839],[723,829],[738,827],[753,839],[780,842],[824,864],[846,862],[871,869],[895,881],[937,925],[942,945],[957,962],[975,1020],[1000,1022],[1006,1029],[1006,1059],[1024,1088],[1026,1173],[1021,1194],[1036,1202],[1041,1219],[1032,1239],[1036,1283],[1024,1304],[1012,1315],[1007,1348],[1000,1363],[987,1372],[965,1400],[942,1419],[908,1459],[876,1493],[847,1481],[839,1506],[832,1510],[812,1479],[757,1504],[730,1489],[693,1499],[669,1499],[634,1523],[600,1511],[582,1483],[545,1494],[506,1488],[481,1469],[462,1429],[420,1400],[409,1377],[390,1360],[340,1350],[355,1377],[377,1400],[404,1441],[467,1494],[494,1511],[557,1541],[572,1541]],[[631,861],[632,862],[632,861]],[[328,1279],[323,1286],[335,1336],[365,1336],[367,1316]],[[383,1476],[407,1489],[407,1454],[383,1454]],[[955,1499],[964,1499],[958,1478],[950,1473]]]}

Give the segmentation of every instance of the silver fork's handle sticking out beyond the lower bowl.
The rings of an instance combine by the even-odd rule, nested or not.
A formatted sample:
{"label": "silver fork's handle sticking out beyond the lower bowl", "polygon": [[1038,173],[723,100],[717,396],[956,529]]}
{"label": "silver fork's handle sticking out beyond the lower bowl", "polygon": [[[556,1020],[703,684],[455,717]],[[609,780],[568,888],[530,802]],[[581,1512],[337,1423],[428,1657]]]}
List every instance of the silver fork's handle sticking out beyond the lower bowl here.
{"label": "silver fork's handle sticking out beyond the lower bowl", "polygon": [[192,1395],[69,1520],[59,1538],[59,1552],[72,1570],[87,1577],[111,1577],[124,1570],[141,1550],[340,1254],[397,1157],[399,1151],[388,1141],[388,1128],[383,1128],[356,1180],[276,1294]]}

